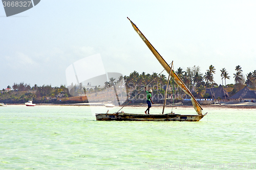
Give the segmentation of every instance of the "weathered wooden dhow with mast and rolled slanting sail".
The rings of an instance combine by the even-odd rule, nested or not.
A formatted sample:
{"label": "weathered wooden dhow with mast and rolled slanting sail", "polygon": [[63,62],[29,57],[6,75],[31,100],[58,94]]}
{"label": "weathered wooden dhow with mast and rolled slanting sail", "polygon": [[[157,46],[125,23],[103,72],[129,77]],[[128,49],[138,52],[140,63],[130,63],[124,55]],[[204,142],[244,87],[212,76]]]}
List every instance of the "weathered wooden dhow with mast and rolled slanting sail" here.
{"label": "weathered wooden dhow with mast and rolled slanting sail", "polygon": [[[128,17],[127,17],[128,18]],[[129,18],[128,18],[129,19]],[[130,20],[130,19],[129,19]],[[162,56],[157,52],[157,50],[154,48],[154,46],[146,39],[146,37],[140,32],[138,27],[130,20],[132,23],[132,26],[134,30],[139,34],[140,38],[145,42],[148,48],[150,48],[151,52],[155,55],[157,60],[160,62],[160,64],[164,67],[164,69],[167,71],[169,78],[172,77],[174,82],[191,98],[192,104],[194,109],[196,110],[196,115],[185,115],[185,114],[175,114],[175,113],[166,113],[164,114],[164,107],[166,102],[166,92],[165,91],[165,101],[163,105],[163,111],[161,114],[139,114],[139,113],[124,113],[121,112],[115,112],[115,113],[96,113],[96,120],[127,120],[127,121],[188,121],[188,122],[198,122],[201,120],[207,113],[202,114],[202,107],[197,102],[197,100],[194,98],[193,94],[189,91],[189,89],[186,87],[186,85],[182,82],[182,80],[178,77],[176,72],[173,70],[172,66],[170,67],[167,62],[162,58]],[[167,84],[168,87],[168,84]],[[122,107],[123,108],[123,107]],[[122,109],[121,108],[121,109]],[[120,110],[121,110],[120,109]],[[120,111],[119,110],[119,111]]]}

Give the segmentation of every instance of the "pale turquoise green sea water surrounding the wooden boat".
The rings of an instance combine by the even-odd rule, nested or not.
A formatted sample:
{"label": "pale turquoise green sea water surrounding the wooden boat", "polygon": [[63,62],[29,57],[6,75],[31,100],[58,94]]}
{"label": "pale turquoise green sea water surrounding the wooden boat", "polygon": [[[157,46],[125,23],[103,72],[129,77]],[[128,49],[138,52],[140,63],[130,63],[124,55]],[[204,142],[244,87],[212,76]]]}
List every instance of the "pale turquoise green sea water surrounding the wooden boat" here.
{"label": "pale turquoise green sea water surrounding the wooden boat", "polygon": [[108,109],[0,107],[0,169],[256,168],[255,109],[205,110],[200,122],[101,122],[91,110]]}

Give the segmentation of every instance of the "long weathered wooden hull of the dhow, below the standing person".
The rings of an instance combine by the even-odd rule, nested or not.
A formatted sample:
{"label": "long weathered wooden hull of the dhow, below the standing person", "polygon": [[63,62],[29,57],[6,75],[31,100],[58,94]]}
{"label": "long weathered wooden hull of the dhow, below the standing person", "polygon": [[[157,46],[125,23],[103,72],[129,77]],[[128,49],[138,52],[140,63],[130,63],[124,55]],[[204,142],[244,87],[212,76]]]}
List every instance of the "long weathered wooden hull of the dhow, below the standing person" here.
{"label": "long weathered wooden hull of the dhow, below the standing person", "polygon": [[187,121],[198,122],[204,115],[181,115],[181,114],[132,114],[132,113],[96,113],[96,120],[116,121]]}

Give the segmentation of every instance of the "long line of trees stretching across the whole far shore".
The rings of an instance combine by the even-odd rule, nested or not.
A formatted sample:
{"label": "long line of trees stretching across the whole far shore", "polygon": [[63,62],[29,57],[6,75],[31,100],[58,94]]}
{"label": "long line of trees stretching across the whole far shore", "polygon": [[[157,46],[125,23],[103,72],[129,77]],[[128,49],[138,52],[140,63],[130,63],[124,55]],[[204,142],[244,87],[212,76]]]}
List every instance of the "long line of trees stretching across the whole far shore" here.
{"label": "long line of trees stretching across the whole far shore", "polygon": [[[246,74],[246,78],[243,75],[243,70],[240,65],[236,66],[234,70],[236,70],[236,74],[233,74],[234,84],[228,85],[229,87],[232,87],[232,91],[230,92],[231,95],[241,90],[245,85],[251,89],[256,89],[256,70]],[[209,66],[209,69],[205,71],[205,74],[202,74],[199,66],[187,67],[186,70],[179,67],[175,72],[189,88],[189,90],[194,91],[193,95],[197,96],[198,98],[210,98],[210,94],[205,94],[206,88],[211,89],[213,87],[218,87],[218,84],[216,84],[214,80],[216,68],[213,65]],[[225,68],[220,70],[220,76],[222,85],[224,81],[224,87],[227,87],[226,79],[230,79],[230,76]],[[165,75],[157,74],[156,72],[153,72],[153,74],[146,74],[145,72],[139,74],[137,71],[133,71],[129,76],[120,76],[117,80],[111,78],[110,81],[105,82],[104,87],[101,88],[95,86],[94,89],[85,89],[80,84],[77,87],[74,86],[74,89],[78,92],[77,95],[80,93],[86,94],[87,91],[94,92],[110,88],[118,82],[122,82],[122,84],[125,85],[127,94],[137,94],[142,86],[144,87],[145,85],[150,85],[151,87],[154,86],[153,90],[163,95],[166,89],[167,78]],[[182,90],[177,88],[178,86],[176,84],[173,84],[173,87],[173,93],[182,93]],[[37,84],[30,86],[29,84],[21,82],[14,83],[12,87],[9,85],[7,88],[12,88],[14,92],[25,91],[25,93],[19,97],[19,99],[23,99],[23,101],[32,97],[35,100],[45,100],[47,97],[55,98],[59,93],[62,93],[62,96],[66,98],[73,95],[73,89],[69,91],[65,85],[61,85],[60,87],[52,87],[51,85],[38,86]],[[3,92],[4,91],[5,89],[3,89]],[[169,91],[169,93],[171,92]],[[17,100],[17,96],[12,97],[13,98],[10,97],[10,99]]]}

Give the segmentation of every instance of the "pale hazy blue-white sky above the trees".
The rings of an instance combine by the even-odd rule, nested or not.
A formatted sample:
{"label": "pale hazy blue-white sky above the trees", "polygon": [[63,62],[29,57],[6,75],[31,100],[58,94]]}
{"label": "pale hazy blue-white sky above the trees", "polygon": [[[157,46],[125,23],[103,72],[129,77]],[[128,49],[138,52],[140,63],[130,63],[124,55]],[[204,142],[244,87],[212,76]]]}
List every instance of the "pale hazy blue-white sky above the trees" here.
{"label": "pale hazy blue-white sky above the trees", "polygon": [[[216,83],[226,68],[256,69],[256,1],[65,1],[41,0],[6,17],[0,6],[0,89],[24,82],[67,84],[66,68],[100,54],[106,72],[128,76],[163,68],[130,19],[174,68],[214,65]],[[97,68],[95,68],[97,69]]]}

